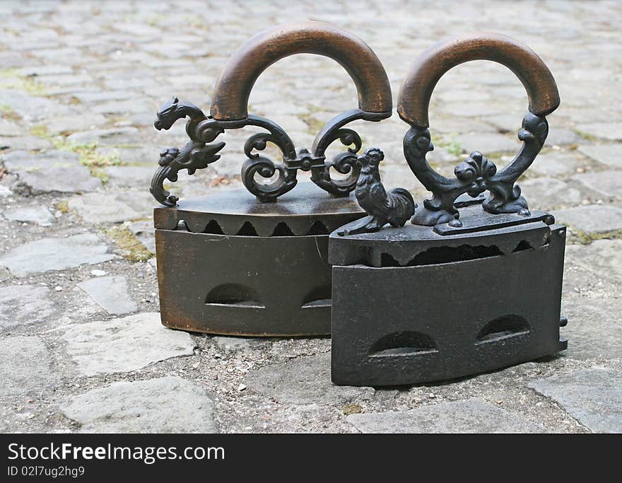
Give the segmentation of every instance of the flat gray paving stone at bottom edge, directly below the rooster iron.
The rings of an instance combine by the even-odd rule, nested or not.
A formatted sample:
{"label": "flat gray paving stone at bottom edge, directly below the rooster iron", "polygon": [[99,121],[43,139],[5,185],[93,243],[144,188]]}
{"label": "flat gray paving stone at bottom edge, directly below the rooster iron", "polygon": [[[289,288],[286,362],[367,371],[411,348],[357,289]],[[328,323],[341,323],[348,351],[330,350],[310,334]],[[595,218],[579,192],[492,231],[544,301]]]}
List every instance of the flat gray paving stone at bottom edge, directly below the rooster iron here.
{"label": "flat gray paving stone at bottom edge, directly below the rooster iron", "polygon": [[543,433],[543,426],[488,402],[439,402],[411,411],[351,414],[362,433]]}

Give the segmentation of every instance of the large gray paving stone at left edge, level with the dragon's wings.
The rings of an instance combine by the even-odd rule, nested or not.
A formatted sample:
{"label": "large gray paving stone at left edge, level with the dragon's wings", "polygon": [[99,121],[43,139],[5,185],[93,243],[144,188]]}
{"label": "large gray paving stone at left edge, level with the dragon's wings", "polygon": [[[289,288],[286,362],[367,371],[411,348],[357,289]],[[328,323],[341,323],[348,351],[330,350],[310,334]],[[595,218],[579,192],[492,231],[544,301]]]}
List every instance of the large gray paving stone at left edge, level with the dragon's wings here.
{"label": "large gray paving stone at left edge, level with the dragon's wings", "polygon": [[16,190],[28,194],[76,193],[98,190],[101,180],[93,178],[78,155],[69,151],[47,151],[33,154],[13,151],[2,156],[9,173],[18,176]]}

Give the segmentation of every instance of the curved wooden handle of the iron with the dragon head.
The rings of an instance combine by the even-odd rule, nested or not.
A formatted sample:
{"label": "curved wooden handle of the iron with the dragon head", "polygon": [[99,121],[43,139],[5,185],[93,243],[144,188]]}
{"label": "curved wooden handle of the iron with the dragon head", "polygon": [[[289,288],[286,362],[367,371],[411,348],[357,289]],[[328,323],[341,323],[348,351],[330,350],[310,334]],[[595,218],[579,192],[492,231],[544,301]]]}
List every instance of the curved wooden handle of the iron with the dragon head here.
{"label": "curved wooden handle of the iron with the dragon head", "polygon": [[259,75],[279,59],[301,53],[324,55],[344,66],[356,84],[360,110],[392,110],[389,78],[370,47],[333,25],[304,22],[265,30],[233,53],[216,81],[212,117],[219,121],[246,119],[248,98]]}

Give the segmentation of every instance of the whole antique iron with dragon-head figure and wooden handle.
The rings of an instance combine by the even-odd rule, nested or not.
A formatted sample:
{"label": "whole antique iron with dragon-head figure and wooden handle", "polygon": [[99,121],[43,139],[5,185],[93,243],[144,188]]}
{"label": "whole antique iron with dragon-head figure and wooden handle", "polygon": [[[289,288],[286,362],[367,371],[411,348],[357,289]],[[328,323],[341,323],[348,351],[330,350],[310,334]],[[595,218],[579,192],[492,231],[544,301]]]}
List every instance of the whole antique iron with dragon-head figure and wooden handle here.
{"label": "whole antique iron with dragon-head figure and wooden handle", "polygon": [[[317,134],[311,149],[296,150],[275,122],[252,115],[252,87],[274,62],[298,53],[339,62],[358,91],[358,108],[343,112]],[[351,192],[358,178],[360,136],[346,124],[390,117],[392,97],[385,69],[358,37],[324,23],[280,25],[255,35],[229,59],[216,82],[210,115],[173,98],[157,114],[156,129],[189,118],[189,141],[160,153],[151,194],[160,308],[164,325],[218,334],[310,335],[330,332],[331,272],[328,233],[363,216]],[[186,169],[192,175],[218,161],[226,129],[261,127],[246,141],[241,178],[247,188],[180,201],[165,190]],[[339,140],[347,151],[327,161]],[[276,163],[259,152],[268,143],[282,153]],[[344,175],[331,178],[331,168]],[[298,170],[311,181],[295,187]],[[278,201],[277,201],[278,198]]]}

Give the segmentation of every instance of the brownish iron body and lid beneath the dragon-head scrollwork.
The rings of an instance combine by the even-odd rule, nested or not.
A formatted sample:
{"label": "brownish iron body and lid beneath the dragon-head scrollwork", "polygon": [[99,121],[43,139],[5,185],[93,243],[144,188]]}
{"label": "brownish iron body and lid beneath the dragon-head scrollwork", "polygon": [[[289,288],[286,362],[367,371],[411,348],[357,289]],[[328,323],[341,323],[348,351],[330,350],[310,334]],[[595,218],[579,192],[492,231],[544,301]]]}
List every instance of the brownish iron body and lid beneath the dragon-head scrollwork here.
{"label": "brownish iron body and lid beneath the dragon-head scrollwork", "polygon": [[300,183],[278,203],[244,189],[154,210],[163,325],[247,336],[330,333],[328,233],[353,197]]}

